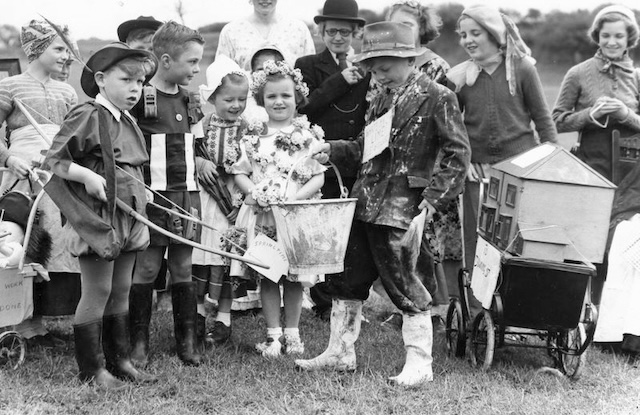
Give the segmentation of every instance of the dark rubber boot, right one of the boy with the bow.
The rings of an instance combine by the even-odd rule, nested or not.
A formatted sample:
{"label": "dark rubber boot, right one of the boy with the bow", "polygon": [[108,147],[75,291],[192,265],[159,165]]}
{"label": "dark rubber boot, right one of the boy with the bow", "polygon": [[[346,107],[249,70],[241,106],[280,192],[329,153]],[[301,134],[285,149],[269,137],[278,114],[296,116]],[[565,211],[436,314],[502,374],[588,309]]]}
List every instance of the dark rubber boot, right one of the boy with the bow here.
{"label": "dark rubber boot, right one of the boy with the bow", "polygon": [[104,316],[102,319],[102,348],[107,370],[115,377],[138,383],[157,381],[155,376],[133,366],[129,358],[129,313]]}

